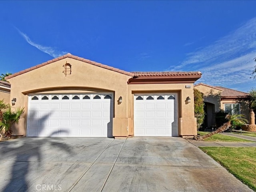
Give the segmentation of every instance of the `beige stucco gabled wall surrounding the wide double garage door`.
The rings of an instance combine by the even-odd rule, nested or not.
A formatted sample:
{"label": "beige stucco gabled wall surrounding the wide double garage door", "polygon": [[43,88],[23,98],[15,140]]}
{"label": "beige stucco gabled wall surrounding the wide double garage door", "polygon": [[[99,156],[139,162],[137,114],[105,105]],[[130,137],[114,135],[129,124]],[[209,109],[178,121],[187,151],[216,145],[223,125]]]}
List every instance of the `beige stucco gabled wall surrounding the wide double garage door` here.
{"label": "beige stucco gabled wall surrounding the wide double garage door", "polygon": [[[70,63],[71,74],[65,76],[62,72],[63,65]],[[114,93],[114,136],[128,136],[127,129],[122,129],[128,124],[126,115],[127,106],[127,81],[128,75],[114,72],[105,68],[94,66],[72,58],[64,58],[51,64],[31,70],[19,76],[10,78],[12,84],[10,98],[17,98],[15,106],[25,107],[24,125],[13,128],[13,134],[26,135],[26,116],[28,94],[46,92],[113,92]],[[117,104],[122,96],[122,105]],[[21,121],[22,122],[22,121]],[[120,128],[120,125],[121,128]],[[127,126],[126,126],[127,128]],[[120,135],[121,134],[121,135]]]}

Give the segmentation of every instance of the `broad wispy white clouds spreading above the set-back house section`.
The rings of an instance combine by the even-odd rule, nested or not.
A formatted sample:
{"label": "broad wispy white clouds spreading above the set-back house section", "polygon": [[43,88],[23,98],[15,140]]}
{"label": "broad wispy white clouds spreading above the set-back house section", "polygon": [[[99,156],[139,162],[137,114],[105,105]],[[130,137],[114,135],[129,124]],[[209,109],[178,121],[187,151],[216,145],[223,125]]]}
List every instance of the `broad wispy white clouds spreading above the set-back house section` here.
{"label": "broad wispy white clouds spreading above the set-back house section", "polygon": [[256,18],[253,18],[212,44],[188,53],[179,66],[169,69],[199,70],[203,74],[200,82],[234,87],[252,84],[250,73],[255,57]]}

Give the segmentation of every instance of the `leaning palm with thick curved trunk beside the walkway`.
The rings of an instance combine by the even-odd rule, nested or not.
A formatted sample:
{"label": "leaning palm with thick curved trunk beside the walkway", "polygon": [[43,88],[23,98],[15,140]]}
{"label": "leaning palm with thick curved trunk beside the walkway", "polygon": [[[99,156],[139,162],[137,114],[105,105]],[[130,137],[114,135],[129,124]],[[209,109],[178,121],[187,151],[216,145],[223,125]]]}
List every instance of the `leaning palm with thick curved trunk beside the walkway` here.
{"label": "leaning palm with thick curved trunk beside the walkway", "polygon": [[222,126],[220,126],[217,130],[210,132],[206,135],[202,135],[200,137],[195,137],[196,140],[200,141],[200,140],[204,140],[205,138],[208,138],[216,133],[220,133],[220,132],[224,132],[226,130],[228,130],[232,124],[236,123],[236,124],[246,124],[248,123],[248,120],[245,118],[244,114],[235,114],[235,115],[230,115],[227,114],[225,117],[228,122],[224,123]]}

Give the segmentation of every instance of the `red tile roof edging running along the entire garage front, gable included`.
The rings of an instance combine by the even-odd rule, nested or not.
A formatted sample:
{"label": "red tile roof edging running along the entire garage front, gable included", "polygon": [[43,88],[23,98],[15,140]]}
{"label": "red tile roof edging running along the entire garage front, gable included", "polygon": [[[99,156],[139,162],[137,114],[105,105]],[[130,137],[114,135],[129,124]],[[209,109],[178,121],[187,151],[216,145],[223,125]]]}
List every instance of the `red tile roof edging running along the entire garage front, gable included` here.
{"label": "red tile roof edging running along the entire garage front, gable included", "polygon": [[88,60],[88,59],[85,59],[85,58],[81,58],[81,57],[78,57],[78,56],[74,56],[70,53],[66,54],[66,55],[63,55],[63,56],[60,56],[58,58],[54,58],[52,60],[49,60],[47,62],[44,62],[44,63],[41,63],[39,65],[36,65],[34,67],[31,67],[31,68],[28,68],[28,69],[25,69],[23,71],[20,71],[20,72],[17,72],[17,73],[14,73],[10,76],[7,76],[5,79],[9,79],[9,78],[12,78],[12,77],[15,77],[15,76],[18,76],[20,74],[24,74],[26,72],[29,72],[31,70],[34,70],[36,68],[40,68],[44,65],[48,65],[52,62],[56,62],[58,60],[62,60],[64,58],[73,58],[73,59],[76,59],[76,60],[80,60],[80,61],[83,61],[83,62],[86,62],[86,63],[90,63],[92,65],[96,65],[96,66],[99,66],[99,67],[102,67],[102,68],[106,68],[108,70],[112,70],[112,71],[115,71],[115,72],[118,72],[118,73],[122,73],[122,74],[125,74],[125,75],[128,75],[128,76],[132,76],[132,77],[140,77],[140,76],[193,76],[193,75],[198,75],[198,76],[201,76],[201,72],[126,72],[124,70],[120,70],[118,68],[114,68],[114,67],[111,67],[111,66],[107,66],[107,65],[104,65],[104,64],[101,64],[101,63],[98,63],[98,62],[95,62],[95,61],[91,61],[91,60]]}

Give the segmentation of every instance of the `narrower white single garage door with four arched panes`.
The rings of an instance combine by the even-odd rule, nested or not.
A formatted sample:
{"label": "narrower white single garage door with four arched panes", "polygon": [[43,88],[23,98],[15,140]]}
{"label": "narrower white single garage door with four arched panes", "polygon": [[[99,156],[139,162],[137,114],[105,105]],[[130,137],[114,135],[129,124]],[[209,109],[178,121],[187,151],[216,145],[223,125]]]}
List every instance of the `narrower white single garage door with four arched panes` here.
{"label": "narrower white single garage door with four arched panes", "polygon": [[134,136],[178,136],[177,94],[135,94]]}

